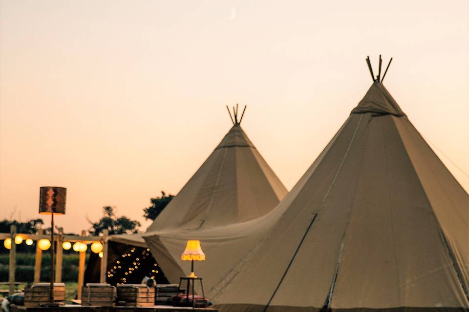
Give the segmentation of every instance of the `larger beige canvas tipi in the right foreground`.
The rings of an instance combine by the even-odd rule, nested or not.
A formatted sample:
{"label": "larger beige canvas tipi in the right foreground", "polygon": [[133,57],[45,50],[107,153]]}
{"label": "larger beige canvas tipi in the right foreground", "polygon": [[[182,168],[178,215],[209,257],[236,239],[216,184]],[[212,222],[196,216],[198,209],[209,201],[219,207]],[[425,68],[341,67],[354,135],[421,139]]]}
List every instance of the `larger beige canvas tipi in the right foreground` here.
{"label": "larger beige canvas tipi in the right foreground", "polygon": [[469,196],[378,79],[276,209],[221,312],[468,310]]}

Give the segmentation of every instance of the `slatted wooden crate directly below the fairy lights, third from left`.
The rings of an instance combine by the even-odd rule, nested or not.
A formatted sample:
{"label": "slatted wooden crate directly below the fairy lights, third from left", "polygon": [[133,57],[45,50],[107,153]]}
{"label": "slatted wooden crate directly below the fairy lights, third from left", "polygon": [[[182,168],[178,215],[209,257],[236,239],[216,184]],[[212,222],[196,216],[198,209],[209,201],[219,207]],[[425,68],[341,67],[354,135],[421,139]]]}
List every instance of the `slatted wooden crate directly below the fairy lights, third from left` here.
{"label": "slatted wooden crate directly below the fairy lights, third from left", "polygon": [[144,284],[117,286],[117,305],[126,307],[153,307],[155,289]]}

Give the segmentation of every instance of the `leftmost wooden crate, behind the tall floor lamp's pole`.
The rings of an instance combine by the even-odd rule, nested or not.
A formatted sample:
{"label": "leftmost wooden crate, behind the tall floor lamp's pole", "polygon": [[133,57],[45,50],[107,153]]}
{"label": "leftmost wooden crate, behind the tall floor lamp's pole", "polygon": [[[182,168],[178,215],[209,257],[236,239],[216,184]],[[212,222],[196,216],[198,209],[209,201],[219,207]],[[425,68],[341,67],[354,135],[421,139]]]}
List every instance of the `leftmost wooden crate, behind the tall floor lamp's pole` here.
{"label": "leftmost wooden crate, behind the tall floor lamp's pole", "polygon": [[[24,306],[39,307],[49,302],[50,283],[37,283],[24,290]],[[65,304],[65,284],[54,283],[54,303]]]}

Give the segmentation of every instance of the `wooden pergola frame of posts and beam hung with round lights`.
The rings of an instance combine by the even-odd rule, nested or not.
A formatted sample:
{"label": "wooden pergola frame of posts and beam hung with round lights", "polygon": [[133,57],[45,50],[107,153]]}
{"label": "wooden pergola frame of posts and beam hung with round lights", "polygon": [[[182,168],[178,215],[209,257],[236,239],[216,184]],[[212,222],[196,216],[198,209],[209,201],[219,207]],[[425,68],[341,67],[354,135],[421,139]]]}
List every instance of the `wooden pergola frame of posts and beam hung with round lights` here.
{"label": "wooden pergola frame of posts and beam hung with round lights", "polygon": [[[63,260],[63,249],[62,243],[64,241],[69,242],[82,242],[85,244],[101,242],[103,244],[103,257],[101,258],[101,269],[99,280],[100,283],[106,283],[106,270],[107,270],[107,236],[108,230],[103,231],[103,236],[85,236],[86,231],[82,231],[82,235],[64,235],[63,228],[59,228],[59,234],[54,237],[54,242],[57,243],[56,256],[55,256],[55,280],[54,282],[62,282],[62,260]],[[50,240],[50,235],[43,234],[43,229],[39,229],[38,234],[23,234],[16,232],[16,226],[12,225],[10,227],[10,233],[0,233],[0,240],[6,238],[11,238],[11,249],[10,249],[10,261],[9,261],[9,294],[12,295],[15,292],[15,270],[16,270],[16,244],[15,236],[20,235],[23,240],[32,239],[40,240],[47,239]],[[51,242],[52,243],[52,242]],[[43,251],[36,244],[36,258],[34,263],[34,283],[39,283],[41,278],[41,261],[42,261]],[[81,298],[82,287],[84,284],[85,278],[85,258],[86,252],[79,252],[79,266],[78,266],[78,299]]]}

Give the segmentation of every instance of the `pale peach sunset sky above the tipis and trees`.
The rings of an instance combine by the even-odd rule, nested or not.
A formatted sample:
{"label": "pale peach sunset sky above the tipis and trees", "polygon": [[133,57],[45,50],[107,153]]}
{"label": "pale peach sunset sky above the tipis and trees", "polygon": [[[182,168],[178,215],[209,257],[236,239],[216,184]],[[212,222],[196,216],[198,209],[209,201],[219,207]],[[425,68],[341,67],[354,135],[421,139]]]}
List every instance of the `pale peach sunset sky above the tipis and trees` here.
{"label": "pale peach sunset sky above the tipis and trees", "polygon": [[0,219],[39,217],[50,185],[67,188],[65,232],[105,205],[144,231],[150,197],[177,194],[236,102],[290,190],[379,54],[394,58],[384,85],[469,191],[468,0],[0,0]]}

